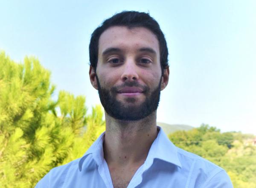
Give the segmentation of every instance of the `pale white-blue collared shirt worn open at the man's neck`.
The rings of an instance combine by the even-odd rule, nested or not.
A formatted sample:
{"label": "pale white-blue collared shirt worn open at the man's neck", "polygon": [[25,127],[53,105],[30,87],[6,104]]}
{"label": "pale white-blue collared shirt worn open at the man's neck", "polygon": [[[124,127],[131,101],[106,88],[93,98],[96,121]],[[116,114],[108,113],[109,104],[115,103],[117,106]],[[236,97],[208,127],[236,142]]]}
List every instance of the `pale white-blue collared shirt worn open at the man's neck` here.
{"label": "pale white-blue collared shirt worn open at the man's neck", "polygon": [[[128,188],[233,188],[227,173],[198,155],[177,148],[160,129]],[[83,157],[53,168],[36,188],[113,188],[103,155],[103,133]]]}

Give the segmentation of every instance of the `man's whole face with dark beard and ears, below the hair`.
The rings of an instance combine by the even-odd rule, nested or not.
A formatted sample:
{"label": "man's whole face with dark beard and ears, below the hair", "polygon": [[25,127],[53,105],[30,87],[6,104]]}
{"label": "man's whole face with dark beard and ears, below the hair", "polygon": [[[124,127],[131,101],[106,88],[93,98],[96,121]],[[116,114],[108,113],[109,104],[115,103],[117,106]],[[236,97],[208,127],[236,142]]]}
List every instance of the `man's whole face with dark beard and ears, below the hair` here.
{"label": "man's whole face with dark beard and ears, below the hair", "polygon": [[147,117],[168,83],[162,77],[157,37],[143,27],[108,28],[99,38],[96,74],[90,69],[90,79],[108,115],[118,120]]}

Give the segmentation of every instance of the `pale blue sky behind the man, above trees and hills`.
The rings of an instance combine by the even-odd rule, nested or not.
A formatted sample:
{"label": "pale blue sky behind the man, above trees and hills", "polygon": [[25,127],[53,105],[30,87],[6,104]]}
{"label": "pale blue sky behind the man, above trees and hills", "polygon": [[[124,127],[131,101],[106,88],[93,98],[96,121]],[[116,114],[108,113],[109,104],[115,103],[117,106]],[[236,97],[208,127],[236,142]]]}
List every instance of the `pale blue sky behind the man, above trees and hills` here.
{"label": "pale blue sky behind the man, above trees and hills", "polygon": [[256,134],[255,0],[0,0],[0,50],[37,57],[58,91],[100,104],[91,86],[90,35],[123,10],[148,12],[165,34],[169,84],[157,121]]}

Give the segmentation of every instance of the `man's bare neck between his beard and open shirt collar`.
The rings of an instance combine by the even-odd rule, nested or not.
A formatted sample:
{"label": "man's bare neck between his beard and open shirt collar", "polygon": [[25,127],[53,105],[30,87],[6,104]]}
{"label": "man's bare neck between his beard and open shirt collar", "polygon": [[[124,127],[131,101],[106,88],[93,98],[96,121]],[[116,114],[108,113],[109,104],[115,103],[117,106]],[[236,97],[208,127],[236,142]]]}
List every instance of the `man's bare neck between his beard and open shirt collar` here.
{"label": "man's bare neck between his beard and open shirt collar", "polygon": [[157,137],[156,111],[138,121],[116,120],[105,112],[104,158],[108,165],[143,164]]}

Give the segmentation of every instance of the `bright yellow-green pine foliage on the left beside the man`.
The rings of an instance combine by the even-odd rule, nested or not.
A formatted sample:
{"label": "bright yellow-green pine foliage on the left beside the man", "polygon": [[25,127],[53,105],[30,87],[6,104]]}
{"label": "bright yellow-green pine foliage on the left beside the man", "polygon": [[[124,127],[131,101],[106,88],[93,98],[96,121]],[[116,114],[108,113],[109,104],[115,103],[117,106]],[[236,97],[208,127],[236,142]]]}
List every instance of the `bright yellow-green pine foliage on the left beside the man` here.
{"label": "bright yellow-green pine foliage on the left beside the man", "polygon": [[53,101],[49,78],[37,59],[18,64],[0,53],[1,187],[34,187],[53,167],[81,157],[104,131],[100,106],[86,115],[85,98],[65,91]]}

